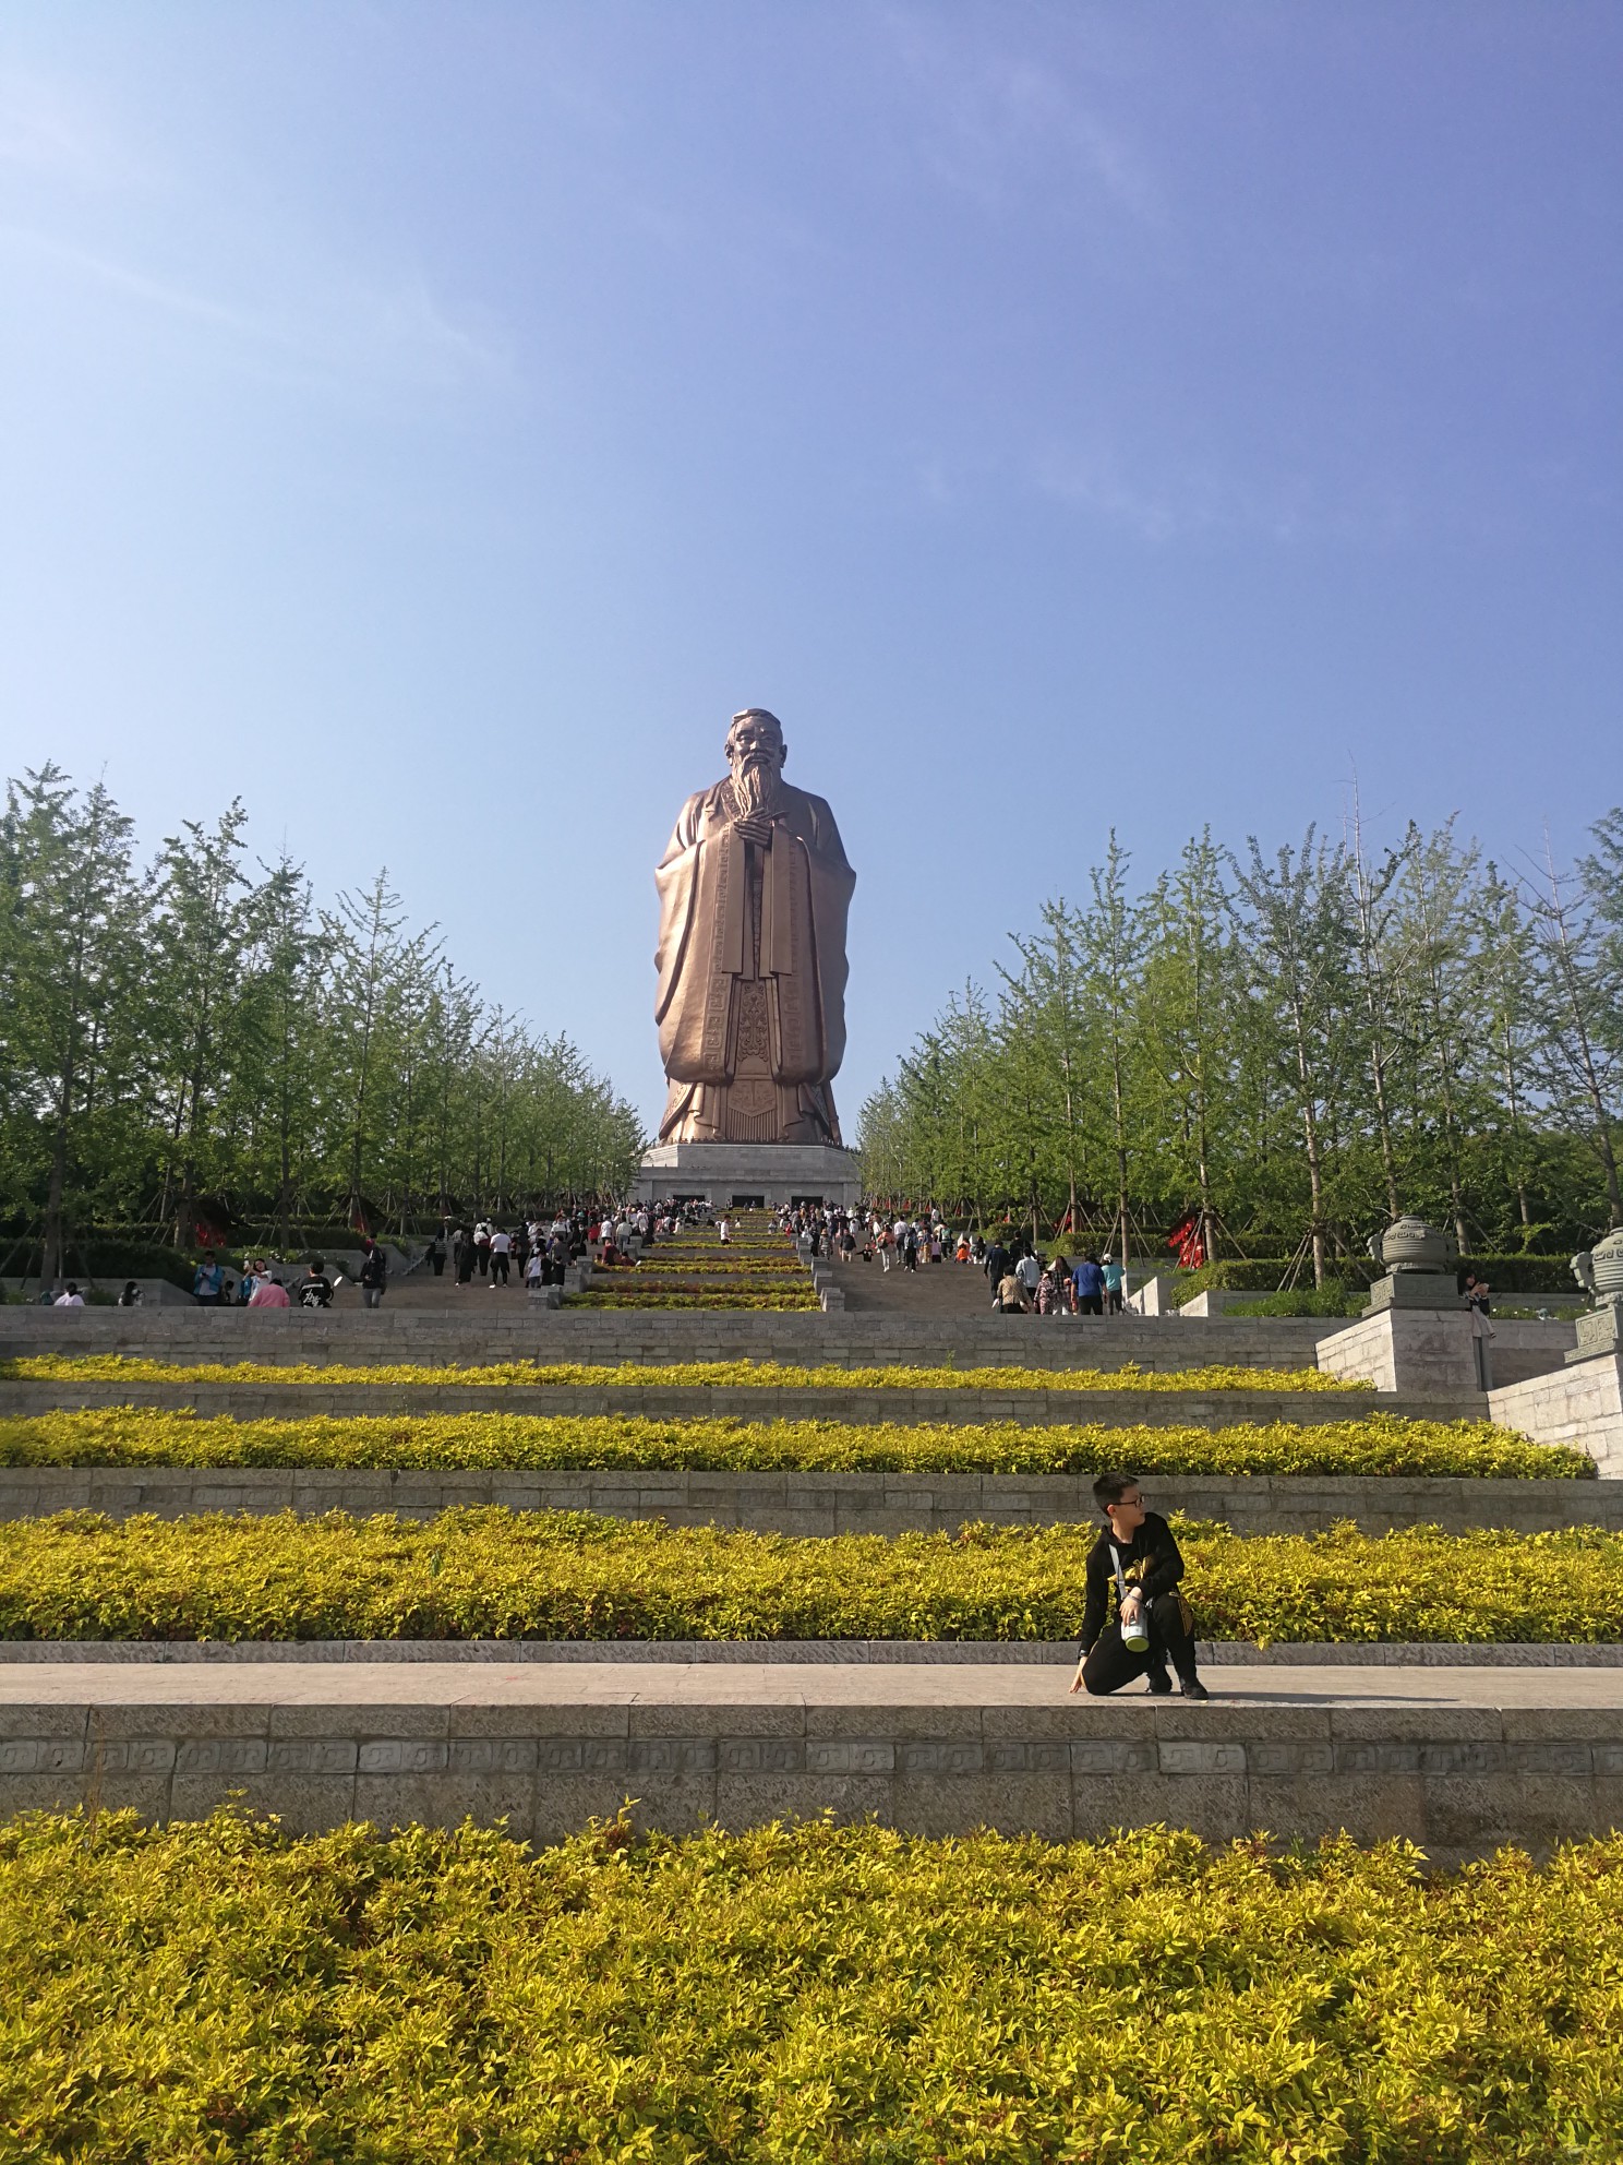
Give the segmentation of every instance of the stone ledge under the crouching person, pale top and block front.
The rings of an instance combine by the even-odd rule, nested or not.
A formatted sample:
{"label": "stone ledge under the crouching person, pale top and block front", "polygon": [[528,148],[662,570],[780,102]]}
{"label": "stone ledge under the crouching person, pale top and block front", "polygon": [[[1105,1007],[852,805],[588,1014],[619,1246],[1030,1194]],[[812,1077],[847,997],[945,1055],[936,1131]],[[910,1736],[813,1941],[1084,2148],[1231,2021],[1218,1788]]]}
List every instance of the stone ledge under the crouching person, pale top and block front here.
{"label": "stone ledge under the crouching person, pale top and block front", "polygon": [[636,1799],[684,1832],[833,1812],[918,1834],[1404,1836],[1437,1864],[1623,1823],[1623,1669],[1266,1665],[1208,1706],[1056,1663],[0,1663],[0,1812],[229,1797],[294,1829]]}

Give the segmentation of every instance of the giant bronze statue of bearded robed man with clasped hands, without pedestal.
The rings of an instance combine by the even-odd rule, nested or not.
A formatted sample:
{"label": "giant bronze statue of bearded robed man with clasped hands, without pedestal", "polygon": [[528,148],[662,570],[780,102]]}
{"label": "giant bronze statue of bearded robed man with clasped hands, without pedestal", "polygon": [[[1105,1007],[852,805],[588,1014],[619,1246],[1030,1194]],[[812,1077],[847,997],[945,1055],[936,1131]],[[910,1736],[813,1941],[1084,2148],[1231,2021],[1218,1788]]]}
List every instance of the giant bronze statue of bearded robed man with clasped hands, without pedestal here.
{"label": "giant bronze statue of bearded robed man with clasped hands, without pedestal", "polygon": [[833,812],[783,782],[783,730],[734,714],[731,773],[688,797],[660,885],[662,1143],[840,1143],[846,909]]}

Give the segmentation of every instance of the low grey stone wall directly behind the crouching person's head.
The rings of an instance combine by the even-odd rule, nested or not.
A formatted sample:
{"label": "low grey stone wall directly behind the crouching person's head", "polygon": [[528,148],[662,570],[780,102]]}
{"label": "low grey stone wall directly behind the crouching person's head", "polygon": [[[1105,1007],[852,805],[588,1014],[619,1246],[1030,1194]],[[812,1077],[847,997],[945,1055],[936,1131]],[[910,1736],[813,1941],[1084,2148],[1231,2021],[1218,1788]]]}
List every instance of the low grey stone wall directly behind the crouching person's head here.
{"label": "low grey stone wall directly behind the crouching person's head", "polygon": [[[1335,1477],[1156,1474],[1145,1487],[1160,1511],[1227,1520],[1236,1533],[1320,1533],[1355,1520],[1365,1533],[1394,1526],[1549,1526],[1623,1531],[1623,1483],[1614,1481],[1420,1481]],[[654,1472],[654,1470],[450,1470],[268,1466],[4,1466],[0,1520],[54,1511],[188,1518],[197,1511],[320,1511],[433,1518],[457,1505],[509,1511],[602,1511],[662,1518],[673,1526],[742,1526],[753,1533],[956,1533],[976,1520],[1052,1526],[1097,1518],[1086,1474],[985,1472]]]}

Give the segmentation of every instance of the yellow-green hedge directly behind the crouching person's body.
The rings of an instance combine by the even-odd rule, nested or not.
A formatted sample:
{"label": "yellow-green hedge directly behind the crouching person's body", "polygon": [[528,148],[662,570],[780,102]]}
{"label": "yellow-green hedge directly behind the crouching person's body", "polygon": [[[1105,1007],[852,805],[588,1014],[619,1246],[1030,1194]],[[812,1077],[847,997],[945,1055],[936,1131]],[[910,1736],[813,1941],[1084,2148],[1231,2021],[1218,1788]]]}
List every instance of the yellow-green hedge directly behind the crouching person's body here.
{"label": "yellow-green hedge directly behind the crouching person's body", "polygon": [[[1153,1503],[1153,1485],[1149,1490]],[[794,1539],[584,1511],[0,1526],[0,1639],[1073,1639],[1091,1526]],[[1623,1535],[1186,1528],[1210,1639],[1617,1641]]]}

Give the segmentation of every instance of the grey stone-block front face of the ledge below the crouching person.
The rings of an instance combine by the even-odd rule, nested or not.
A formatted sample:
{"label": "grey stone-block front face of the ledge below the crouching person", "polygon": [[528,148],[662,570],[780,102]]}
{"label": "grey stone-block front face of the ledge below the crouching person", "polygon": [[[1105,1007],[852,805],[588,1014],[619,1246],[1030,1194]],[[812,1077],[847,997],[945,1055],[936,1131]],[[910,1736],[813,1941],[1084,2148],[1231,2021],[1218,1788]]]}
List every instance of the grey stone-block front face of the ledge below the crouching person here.
{"label": "grey stone-block front face of the ledge below the crouching person", "polygon": [[547,1840],[636,1799],[688,1832],[870,1814],[1050,1840],[1169,1823],[1404,1836],[1435,1864],[1545,1853],[1623,1819],[1623,1710],[1404,1706],[251,1706],[0,1708],[0,1814],[149,1821],[240,1797],[290,1829],[504,1819]]}

